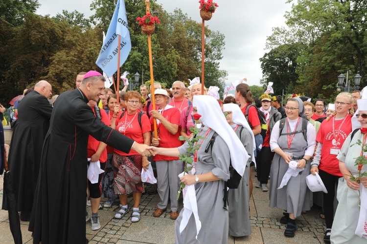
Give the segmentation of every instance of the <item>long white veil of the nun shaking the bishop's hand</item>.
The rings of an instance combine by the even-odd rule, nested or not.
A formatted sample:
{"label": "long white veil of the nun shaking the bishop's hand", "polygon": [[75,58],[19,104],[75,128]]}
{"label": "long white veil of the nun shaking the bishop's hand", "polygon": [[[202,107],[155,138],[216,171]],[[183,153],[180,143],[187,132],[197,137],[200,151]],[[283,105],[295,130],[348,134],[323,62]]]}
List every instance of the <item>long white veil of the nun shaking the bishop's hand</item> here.
{"label": "long white veil of the nun shaking the bishop's hand", "polygon": [[243,162],[247,162],[250,156],[226,121],[219,103],[213,97],[202,95],[194,96],[193,106],[197,108],[198,114],[202,116],[200,118],[201,122],[217,132],[226,142],[229,148],[232,166],[236,169],[238,174],[243,175],[245,172]]}

